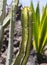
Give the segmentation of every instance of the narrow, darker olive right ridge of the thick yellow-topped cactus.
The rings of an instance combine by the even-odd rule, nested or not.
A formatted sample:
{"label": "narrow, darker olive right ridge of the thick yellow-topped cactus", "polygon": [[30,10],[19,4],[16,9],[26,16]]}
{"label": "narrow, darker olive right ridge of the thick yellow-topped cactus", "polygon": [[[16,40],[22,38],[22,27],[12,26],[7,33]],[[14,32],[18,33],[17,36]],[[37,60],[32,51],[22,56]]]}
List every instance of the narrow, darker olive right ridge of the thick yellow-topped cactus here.
{"label": "narrow, darker olive right ridge of the thick yellow-topped cactus", "polygon": [[28,15],[28,41],[27,41],[27,46],[26,46],[25,57],[24,57],[21,65],[26,65],[29,54],[30,54],[30,50],[32,47],[32,12],[31,12],[30,8],[27,8],[27,15]]}

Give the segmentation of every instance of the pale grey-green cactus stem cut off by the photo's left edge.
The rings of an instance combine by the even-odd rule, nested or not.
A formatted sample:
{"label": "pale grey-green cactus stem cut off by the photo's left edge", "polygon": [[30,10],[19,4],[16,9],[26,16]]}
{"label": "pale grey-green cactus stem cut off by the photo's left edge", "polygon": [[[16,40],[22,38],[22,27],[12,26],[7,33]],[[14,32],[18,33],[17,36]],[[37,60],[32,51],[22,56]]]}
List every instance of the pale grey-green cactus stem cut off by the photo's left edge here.
{"label": "pale grey-green cactus stem cut off by the photo's left edge", "polygon": [[6,0],[0,0],[0,51],[2,47],[2,39],[3,39],[3,20],[5,18],[6,11]]}

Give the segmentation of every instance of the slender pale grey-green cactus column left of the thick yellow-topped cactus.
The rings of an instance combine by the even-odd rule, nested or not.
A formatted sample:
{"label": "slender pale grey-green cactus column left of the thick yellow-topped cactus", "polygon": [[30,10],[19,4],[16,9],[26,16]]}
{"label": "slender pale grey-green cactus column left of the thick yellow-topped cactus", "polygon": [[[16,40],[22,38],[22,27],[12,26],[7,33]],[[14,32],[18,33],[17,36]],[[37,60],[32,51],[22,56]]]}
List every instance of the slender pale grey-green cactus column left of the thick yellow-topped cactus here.
{"label": "slender pale grey-green cactus column left of the thick yellow-topped cactus", "polygon": [[18,3],[14,2],[11,8],[11,18],[10,18],[10,28],[9,28],[9,44],[8,44],[8,53],[6,59],[6,65],[11,65],[12,63],[12,56],[13,56],[13,36],[14,36],[14,27],[15,27],[15,16],[17,11],[17,6],[15,5]]}

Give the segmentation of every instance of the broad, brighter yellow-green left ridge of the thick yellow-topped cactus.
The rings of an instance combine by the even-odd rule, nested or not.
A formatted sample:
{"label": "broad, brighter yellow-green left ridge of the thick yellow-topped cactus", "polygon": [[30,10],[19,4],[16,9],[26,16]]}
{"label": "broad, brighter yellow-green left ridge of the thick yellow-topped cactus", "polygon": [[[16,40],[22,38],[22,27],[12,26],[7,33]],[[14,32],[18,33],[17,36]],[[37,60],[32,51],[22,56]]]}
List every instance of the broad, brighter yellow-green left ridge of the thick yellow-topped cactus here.
{"label": "broad, brighter yellow-green left ridge of the thick yellow-topped cactus", "polygon": [[26,52],[26,46],[27,46],[27,40],[28,40],[28,15],[27,15],[27,9],[24,8],[22,10],[22,42],[21,42],[21,48],[20,53],[18,57],[16,58],[14,65],[20,65]]}

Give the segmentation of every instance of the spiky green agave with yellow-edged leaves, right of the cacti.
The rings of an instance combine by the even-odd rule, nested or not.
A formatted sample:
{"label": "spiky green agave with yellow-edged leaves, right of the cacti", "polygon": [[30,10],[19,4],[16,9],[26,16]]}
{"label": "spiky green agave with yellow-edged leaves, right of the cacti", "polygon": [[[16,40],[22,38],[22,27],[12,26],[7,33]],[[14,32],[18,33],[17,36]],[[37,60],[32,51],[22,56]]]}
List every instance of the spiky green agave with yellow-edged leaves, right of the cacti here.
{"label": "spiky green agave with yellow-edged leaves, right of the cacti", "polygon": [[36,11],[34,11],[33,4],[31,3],[31,10],[33,12],[33,46],[37,54],[43,54],[45,45],[47,44],[47,5],[44,8],[42,16],[39,11],[39,3]]}

